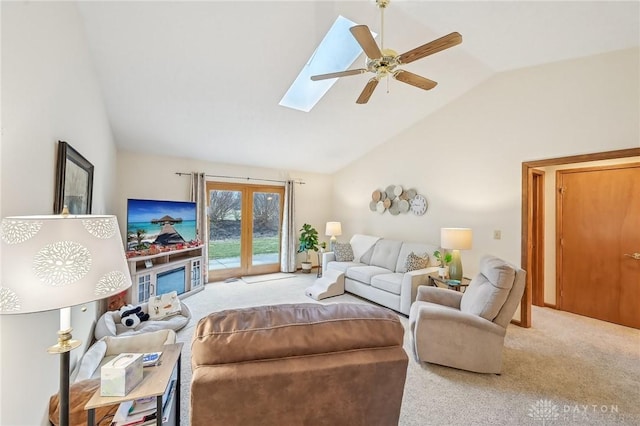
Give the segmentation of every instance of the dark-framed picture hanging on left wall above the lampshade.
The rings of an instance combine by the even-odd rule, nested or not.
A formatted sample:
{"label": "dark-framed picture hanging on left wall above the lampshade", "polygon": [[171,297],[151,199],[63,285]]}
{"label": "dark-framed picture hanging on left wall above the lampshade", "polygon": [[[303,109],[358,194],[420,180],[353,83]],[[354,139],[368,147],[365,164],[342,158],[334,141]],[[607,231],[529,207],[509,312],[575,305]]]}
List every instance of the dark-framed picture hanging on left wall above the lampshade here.
{"label": "dark-framed picture hanging on left wall above the lampshade", "polygon": [[58,141],[56,193],[53,212],[67,206],[71,214],[91,214],[93,164],[67,142]]}

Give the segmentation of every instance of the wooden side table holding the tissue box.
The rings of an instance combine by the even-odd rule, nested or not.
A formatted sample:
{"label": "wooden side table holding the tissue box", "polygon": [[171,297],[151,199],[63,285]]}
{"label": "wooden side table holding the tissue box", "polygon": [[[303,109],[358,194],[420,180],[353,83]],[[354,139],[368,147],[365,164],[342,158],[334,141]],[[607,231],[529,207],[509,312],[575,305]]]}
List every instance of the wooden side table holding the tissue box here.
{"label": "wooden side table holding the tissue box", "polygon": [[180,424],[180,362],[182,358],[182,345],[183,343],[174,343],[171,345],[165,345],[162,349],[162,356],[160,357],[160,364],[153,367],[145,367],[143,370],[142,382],[136,386],[131,392],[125,396],[101,396],[100,389],[98,389],[87,405],[84,406],[85,410],[89,410],[87,415],[87,425],[95,426],[96,413],[95,409],[104,405],[119,404],[125,401],[131,401],[134,399],[156,397],[156,425],[162,426],[162,396],[171,384],[171,376],[174,369],[177,369],[176,390],[173,398],[173,403],[176,406],[176,421],[175,424]]}

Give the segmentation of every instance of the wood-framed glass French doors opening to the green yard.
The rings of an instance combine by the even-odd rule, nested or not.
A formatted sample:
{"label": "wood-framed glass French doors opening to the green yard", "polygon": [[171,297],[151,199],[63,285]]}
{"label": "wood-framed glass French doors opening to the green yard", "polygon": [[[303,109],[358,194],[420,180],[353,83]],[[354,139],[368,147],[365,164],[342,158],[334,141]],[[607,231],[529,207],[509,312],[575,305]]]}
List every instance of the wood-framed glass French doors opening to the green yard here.
{"label": "wood-framed glass French doors opening to the green yard", "polygon": [[209,281],[280,271],[283,186],[207,182]]}

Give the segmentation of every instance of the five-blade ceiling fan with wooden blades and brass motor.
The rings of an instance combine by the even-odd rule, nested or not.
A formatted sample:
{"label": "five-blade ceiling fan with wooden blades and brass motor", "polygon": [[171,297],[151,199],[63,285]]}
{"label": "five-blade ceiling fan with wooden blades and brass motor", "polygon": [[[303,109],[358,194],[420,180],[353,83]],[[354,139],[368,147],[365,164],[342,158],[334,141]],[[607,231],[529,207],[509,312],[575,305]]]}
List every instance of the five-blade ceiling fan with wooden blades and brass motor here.
{"label": "five-blade ceiling fan with wooden blades and brass motor", "polygon": [[411,49],[405,53],[398,55],[394,50],[384,48],[384,9],[389,5],[390,0],[376,0],[376,5],[380,8],[380,47],[376,44],[369,27],[366,25],[356,25],[351,27],[349,31],[353,34],[358,44],[362,47],[365,55],[367,55],[366,68],[358,68],[355,70],[332,72],[328,74],[320,74],[311,76],[311,80],[326,80],[330,78],[346,77],[349,75],[363,74],[365,72],[371,72],[375,74],[367,85],[364,87],[362,93],[356,100],[358,104],[366,104],[369,98],[373,94],[376,86],[385,77],[392,76],[398,81],[410,84],[420,89],[429,90],[436,87],[438,83],[428,78],[421,77],[412,72],[398,68],[400,65],[408,64],[410,62],[422,59],[426,56],[433,55],[442,50],[456,46],[462,43],[462,36],[453,32],[447,34],[444,37],[433,40],[422,46]]}

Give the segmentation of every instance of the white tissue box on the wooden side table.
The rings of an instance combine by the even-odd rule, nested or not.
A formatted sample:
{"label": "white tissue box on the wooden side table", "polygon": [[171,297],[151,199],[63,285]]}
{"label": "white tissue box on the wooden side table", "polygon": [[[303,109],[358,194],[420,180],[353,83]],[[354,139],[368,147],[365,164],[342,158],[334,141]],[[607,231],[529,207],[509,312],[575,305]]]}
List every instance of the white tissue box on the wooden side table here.
{"label": "white tissue box on the wooden side table", "polygon": [[100,395],[125,396],[141,381],[142,354],[120,354],[100,369]]}

